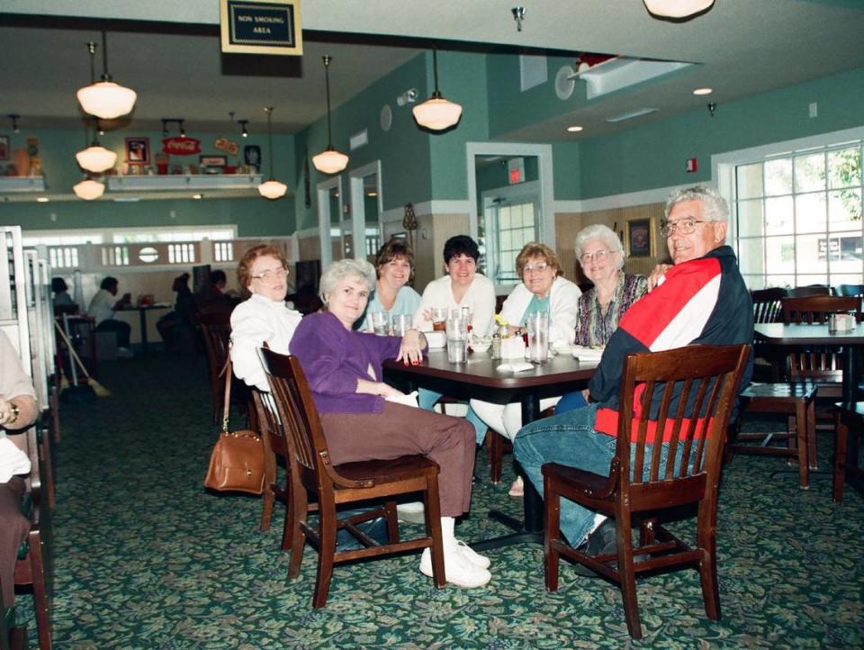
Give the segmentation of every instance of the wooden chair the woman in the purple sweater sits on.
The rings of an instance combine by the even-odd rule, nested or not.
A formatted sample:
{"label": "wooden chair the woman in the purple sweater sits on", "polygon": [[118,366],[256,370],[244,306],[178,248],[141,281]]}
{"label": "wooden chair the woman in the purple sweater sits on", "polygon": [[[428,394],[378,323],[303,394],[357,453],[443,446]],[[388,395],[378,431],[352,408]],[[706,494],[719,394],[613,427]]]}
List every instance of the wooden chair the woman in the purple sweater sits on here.
{"label": "wooden chair the woman in the purple sweater sits on", "polygon": [[[280,355],[273,350],[259,352],[270,383],[279,422],[287,435],[289,451],[288,517],[285,519],[283,546],[290,540],[291,560],[288,576],[300,574],[303,548],[308,540],[318,551],[318,574],[312,607],[327,602],[333,564],[367,557],[392,555],[420,548],[431,548],[432,570],[437,587],[446,583],[444,549],[441,543],[441,516],[438,501],[438,465],[424,456],[402,456],[386,461],[368,461],[332,465],[318,411],[309,384],[296,357]],[[319,522],[307,522],[309,495],[319,504]],[[400,541],[394,497],[422,492],[426,512],[426,537]],[[346,503],[387,499],[382,513],[387,516],[390,543],[378,544],[356,529],[357,518],[338,519],[337,507]],[[363,519],[367,519],[364,515]],[[365,547],[338,552],[336,533],[350,531]]]}

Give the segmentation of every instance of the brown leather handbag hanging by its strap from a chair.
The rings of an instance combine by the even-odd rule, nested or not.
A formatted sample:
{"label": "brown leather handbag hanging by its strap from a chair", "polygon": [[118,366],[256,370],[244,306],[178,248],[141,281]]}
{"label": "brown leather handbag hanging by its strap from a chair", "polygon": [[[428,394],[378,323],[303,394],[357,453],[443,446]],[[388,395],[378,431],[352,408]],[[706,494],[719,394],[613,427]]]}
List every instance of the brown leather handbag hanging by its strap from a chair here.
{"label": "brown leather handbag hanging by its strap from a chair", "polygon": [[231,359],[225,362],[225,410],[222,432],[210,455],[204,487],[217,492],[264,492],[264,443],[255,431],[228,430],[231,404]]}

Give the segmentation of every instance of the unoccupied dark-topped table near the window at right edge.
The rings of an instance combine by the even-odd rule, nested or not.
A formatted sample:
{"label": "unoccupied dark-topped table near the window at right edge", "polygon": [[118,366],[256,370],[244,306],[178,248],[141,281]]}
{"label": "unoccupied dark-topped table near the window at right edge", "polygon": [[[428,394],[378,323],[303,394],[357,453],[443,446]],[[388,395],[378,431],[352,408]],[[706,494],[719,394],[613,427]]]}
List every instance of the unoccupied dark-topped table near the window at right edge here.
{"label": "unoccupied dark-topped table near the window at right edge", "polygon": [[[757,323],[753,326],[757,341],[779,348],[818,346],[840,348],[842,357],[842,401],[846,405],[858,402],[861,383],[861,355],[864,354],[864,323],[846,331],[831,331],[827,323]],[[847,457],[858,458],[858,436],[849,437]],[[811,473],[813,474],[813,473]],[[860,472],[847,466],[846,480],[862,491]]]}

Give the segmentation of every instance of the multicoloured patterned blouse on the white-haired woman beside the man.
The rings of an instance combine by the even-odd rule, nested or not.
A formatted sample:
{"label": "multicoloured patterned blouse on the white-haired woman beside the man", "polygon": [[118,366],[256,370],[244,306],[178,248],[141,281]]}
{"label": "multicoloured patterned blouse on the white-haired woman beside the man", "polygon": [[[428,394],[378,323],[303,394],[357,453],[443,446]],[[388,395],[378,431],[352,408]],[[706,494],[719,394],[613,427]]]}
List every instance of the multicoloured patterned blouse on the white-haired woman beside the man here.
{"label": "multicoloured patterned blouse on the white-haired woman beside the man", "polygon": [[648,293],[648,279],[644,275],[625,275],[624,271],[618,271],[615,294],[605,312],[600,308],[594,287],[582,293],[576,308],[576,345],[606,346],[612,332],[617,330],[618,320],[645,293]]}

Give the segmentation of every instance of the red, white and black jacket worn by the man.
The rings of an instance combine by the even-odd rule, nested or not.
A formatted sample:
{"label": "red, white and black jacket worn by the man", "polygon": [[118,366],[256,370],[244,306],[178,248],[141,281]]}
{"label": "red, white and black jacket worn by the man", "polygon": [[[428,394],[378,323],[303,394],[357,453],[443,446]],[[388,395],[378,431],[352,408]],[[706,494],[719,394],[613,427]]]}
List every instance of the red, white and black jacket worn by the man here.
{"label": "red, white and black jacket worn by the man", "polygon": [[[752,300],[732,248],[721,246],[705,257],[672,266],[662,284],[626,312],[609,339],[589,384],[591,400],[600,402],[594,428],[610,436],[617,434],[618,396],[627,355],[752,340]],[[740,390],[750,384],[752,369],[751,354]],[[661,396],[655,393],[652,413],[657,412]],[[640,404],[635,403],[638,408]]]}

